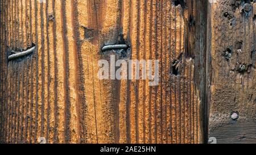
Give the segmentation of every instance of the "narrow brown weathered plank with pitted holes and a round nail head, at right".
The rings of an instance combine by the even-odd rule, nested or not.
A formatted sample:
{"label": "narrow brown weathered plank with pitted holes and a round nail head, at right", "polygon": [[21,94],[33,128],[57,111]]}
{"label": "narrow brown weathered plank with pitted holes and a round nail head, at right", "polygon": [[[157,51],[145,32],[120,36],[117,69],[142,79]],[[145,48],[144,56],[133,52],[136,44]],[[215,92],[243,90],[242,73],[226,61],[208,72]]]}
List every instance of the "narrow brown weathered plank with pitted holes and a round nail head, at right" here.
{"label": "narrow brown weathered plank with pitted holes and a round nail head, at right", "polygon": [[[243,9],[245,3],[249,9]],[[253,1],[235,0],[209,5],[209,136],[216,137],[217,143],[256,142],[256,20],[252,6]]]}

